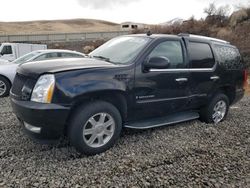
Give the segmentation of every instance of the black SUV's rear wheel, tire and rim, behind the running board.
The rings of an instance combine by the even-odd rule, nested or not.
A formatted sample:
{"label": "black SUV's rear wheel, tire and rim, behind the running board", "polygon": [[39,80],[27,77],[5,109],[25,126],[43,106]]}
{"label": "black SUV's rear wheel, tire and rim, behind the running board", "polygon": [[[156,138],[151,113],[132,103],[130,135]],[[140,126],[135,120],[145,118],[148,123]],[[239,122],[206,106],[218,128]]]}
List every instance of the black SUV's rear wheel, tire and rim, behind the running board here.
{"label": "black SUV's rear wheel, tire and rim, behind the running board", "polygon": [[218,93],[207,106],[201,109],[200,119],[206,123],[219,123],[226,118],[228,109],[228,97],[223,93]]}

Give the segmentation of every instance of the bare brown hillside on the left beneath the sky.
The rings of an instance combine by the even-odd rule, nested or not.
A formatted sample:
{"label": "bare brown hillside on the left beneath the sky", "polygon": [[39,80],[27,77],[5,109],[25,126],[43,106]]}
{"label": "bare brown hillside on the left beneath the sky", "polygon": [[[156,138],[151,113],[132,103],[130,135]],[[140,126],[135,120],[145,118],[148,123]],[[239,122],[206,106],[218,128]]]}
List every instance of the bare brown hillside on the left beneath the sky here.
{"label": "bare brown hillside on the left beneath the sky", "polygon": [[114,31],[119,29],[119,24],[94,19],[0,22],[0,35],[24,33],[77,33],[90,31]]}

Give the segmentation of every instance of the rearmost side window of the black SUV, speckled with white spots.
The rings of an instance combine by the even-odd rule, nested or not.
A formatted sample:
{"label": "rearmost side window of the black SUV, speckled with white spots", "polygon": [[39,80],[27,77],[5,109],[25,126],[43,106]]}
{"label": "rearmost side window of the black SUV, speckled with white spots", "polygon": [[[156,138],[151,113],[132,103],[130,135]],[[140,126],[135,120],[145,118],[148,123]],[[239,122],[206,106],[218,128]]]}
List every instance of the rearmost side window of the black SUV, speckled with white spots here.
{"label": "rearmost side window of the black SUV, speckled with white spots", "polygon": [[240,69],[243,67],[241,56],[237,48],[230,46],[215,45],[219,65],[225,69]]}

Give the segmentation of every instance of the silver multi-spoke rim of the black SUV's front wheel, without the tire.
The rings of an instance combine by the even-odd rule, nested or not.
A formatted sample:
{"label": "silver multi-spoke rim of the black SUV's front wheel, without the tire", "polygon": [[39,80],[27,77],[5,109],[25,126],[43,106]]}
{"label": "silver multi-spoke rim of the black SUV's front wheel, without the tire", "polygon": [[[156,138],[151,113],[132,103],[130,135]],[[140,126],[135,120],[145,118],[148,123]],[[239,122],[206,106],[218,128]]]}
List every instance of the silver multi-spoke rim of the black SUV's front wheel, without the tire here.
{"label": "silver multi-spoke rim of the black SUV's front wheel, without the tire", "polygon": [[115,121],[108,113],[98,113],[90,117],[83,126],[84,142],[93,148],[104,146],[113,137]]}

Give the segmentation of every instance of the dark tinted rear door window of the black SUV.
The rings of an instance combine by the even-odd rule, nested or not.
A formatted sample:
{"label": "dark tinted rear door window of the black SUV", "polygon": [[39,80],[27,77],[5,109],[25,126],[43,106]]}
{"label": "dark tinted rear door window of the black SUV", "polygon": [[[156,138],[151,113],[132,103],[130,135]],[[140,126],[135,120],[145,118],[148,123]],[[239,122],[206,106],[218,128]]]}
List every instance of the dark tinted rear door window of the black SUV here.
{"label": "dark tinted rear door window of the black SUV", "polygon": [[191,68],[212,68],[215,64],[211,47],[206,43],[189,42]]}

